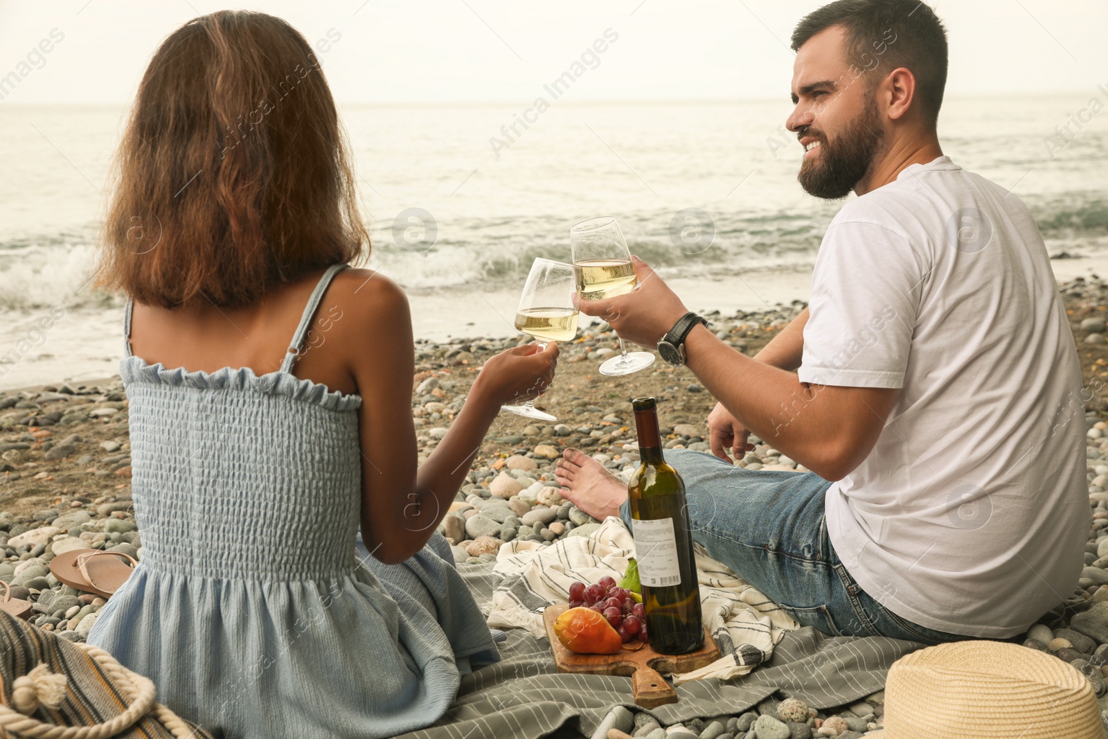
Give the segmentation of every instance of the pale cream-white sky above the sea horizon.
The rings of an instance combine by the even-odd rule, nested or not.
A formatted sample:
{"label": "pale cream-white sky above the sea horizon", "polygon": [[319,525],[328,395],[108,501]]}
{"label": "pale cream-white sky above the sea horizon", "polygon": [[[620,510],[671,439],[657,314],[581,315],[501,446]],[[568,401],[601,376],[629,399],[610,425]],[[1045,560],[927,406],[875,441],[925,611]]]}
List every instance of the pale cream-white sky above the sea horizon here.
{"label": "pale cream-white sky above the sea horizon", "polygon": [[[802,0],[0,0],[0,78],[28,72],[9,104],[122,104],[161,40],[220,8],[280,16],[320,53],[343,104],[530,102],[607,29],[577,101],[788,95],[788,39]],[[937,0],[951,39],[950,95],[1108,86],[1105,0]],[[57,29],[57,30],[55,30]],[[40,41],[57,43],[49,53]],[[30,60],[28,57],[30,54]],[[21,62],[30,61],[30,64]]]}

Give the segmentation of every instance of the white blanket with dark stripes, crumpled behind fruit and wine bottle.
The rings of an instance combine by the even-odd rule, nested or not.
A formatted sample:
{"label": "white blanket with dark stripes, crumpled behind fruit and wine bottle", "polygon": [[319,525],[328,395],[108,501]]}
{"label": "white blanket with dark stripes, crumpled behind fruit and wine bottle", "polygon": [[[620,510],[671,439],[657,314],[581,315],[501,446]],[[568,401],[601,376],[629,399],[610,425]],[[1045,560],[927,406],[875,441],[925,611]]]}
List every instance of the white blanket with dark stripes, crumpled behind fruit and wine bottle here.
{"label": "white blanket with dark stripes, crumpled behind fruit and wine bottle", "polygon": [[[609,575],[618,582],[633,556],[635,541],[616,517],[608,517],[588,536],[566,536],[546,547],[537,542],[509,542],[501,546],[493,567],[503,581],[492,595],[489,626],[525,628],[542,637],[542,607],[565,603],[574,581],[595,583]],[[800,627],[699,544],[696,568],[705,626],[722,656],[695,673],[674,676],[674,682],[746,675],[773,654],[773,645],[786,632]]]}

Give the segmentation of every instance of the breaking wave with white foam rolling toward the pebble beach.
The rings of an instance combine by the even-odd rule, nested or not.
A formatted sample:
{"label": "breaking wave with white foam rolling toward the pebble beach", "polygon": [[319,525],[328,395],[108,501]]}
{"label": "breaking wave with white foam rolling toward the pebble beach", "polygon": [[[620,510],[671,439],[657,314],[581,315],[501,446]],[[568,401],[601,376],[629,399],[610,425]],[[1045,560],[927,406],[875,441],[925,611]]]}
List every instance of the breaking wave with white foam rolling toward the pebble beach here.
{"label": "breaking wave with white foam rolling toward the pebble beach", "polygon": [[[1051,253],[1102,254],[1108,246],[1108,203],[1092,192],[1028,199]],[[628,246],[663,275],[722,276],[793,269],[811,265],[833,204],[808,212],[715,213],[715,236],[704,248],[679,245],[670,235],[671,212],[620,215]],[[570,260],[568,227],[558,215],[443,219],[425,252],[400,248],[391,223],[372,230],[372,256],[380,269],[409,290],[520,285],[536,257]],[[95,225],[78,233],[45,234],[0,242],[0,309],[34,310],[114,304],[117,296],[90,284],[95,263]]]}

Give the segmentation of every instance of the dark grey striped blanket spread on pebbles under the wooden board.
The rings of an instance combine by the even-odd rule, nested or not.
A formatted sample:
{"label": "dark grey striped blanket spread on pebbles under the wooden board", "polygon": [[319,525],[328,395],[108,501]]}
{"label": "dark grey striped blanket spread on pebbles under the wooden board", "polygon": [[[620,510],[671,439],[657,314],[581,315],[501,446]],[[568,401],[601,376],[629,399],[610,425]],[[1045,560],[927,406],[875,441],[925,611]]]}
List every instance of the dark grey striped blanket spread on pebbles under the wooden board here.
{"label": "dark grey striped blanket spread on pebbles under the wooden board", "polygon": [[[459,565],[482,608],[499,584],[492,567]],[[678,702],[650,714],[663,726],[735,715],[774,692],[812,708],[843,706],[881,690],[890,665],[922,646],[884,637],[829,637],[804,627],[786,634],[770,660],[750,675],[686,682],[676,688]],[[635,706],[629,677],[558,674],[545,638],[511,629],[500,650],[500,663],[462,678],[445,716],[404,739],[592,737],[613,706],[643,710]]]}

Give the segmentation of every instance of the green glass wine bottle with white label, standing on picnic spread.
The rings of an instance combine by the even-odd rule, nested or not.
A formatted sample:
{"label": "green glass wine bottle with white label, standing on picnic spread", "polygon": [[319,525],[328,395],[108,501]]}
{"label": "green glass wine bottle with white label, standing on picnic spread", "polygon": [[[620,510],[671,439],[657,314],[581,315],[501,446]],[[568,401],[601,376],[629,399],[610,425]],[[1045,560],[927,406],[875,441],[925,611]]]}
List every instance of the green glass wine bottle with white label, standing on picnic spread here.
{"label": "green glass wine bottle with white label, standing on picnic spread", "polygon": [[655,651],[683,655],[704,646],[700,588],[693,557],[685,483],[661,456],[657,403],[636,398],[640,462],[627,485],[635,520],[635,557],[646,607],[646,630]]}

